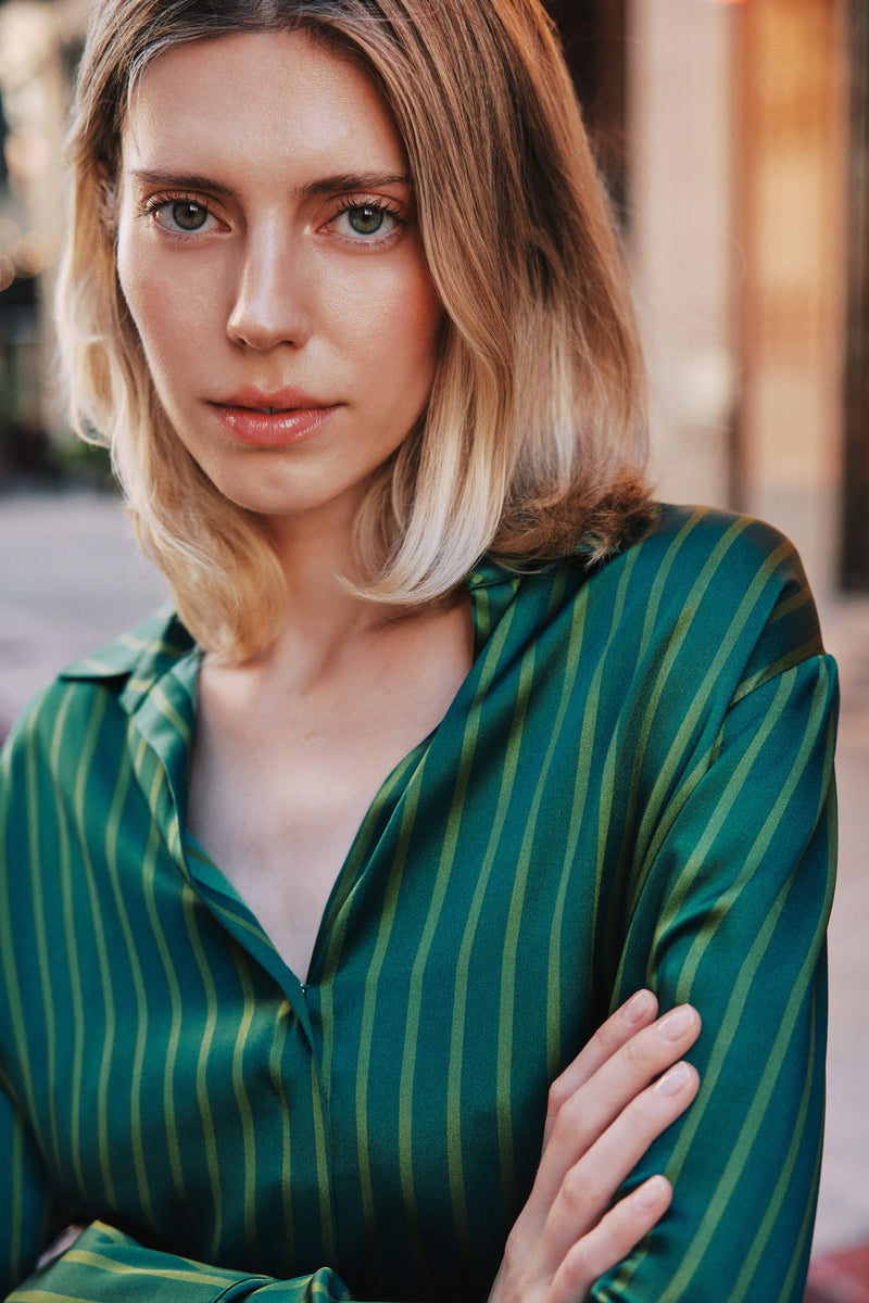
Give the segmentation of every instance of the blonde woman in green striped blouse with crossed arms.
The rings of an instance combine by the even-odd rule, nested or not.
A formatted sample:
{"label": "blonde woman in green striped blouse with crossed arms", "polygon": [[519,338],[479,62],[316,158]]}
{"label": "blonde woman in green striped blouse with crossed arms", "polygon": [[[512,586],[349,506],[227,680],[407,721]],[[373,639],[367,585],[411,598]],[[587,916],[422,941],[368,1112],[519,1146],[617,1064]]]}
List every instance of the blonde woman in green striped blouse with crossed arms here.
{"label": "blonde woman in green striped blouse with crossed arms", "polygon": [[103,0],[72,160],[177,615],[4,756],[9,1298],[799,1299],[833,668],[648,502],[537,0]]}

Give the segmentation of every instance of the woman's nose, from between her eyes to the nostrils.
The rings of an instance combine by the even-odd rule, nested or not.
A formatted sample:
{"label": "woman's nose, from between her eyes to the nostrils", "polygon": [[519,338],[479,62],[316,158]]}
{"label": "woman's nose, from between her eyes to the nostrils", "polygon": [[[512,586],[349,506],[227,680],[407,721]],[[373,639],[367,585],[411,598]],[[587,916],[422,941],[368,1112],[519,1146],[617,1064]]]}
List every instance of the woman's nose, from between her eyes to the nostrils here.
{"label": "woman's nose, from between her eyes to the nostrils", "polygon": [[227,321],[231,341],[259,351],[301,348],[311,331],[309,281],[304,251],[281,224],[250,232]]}

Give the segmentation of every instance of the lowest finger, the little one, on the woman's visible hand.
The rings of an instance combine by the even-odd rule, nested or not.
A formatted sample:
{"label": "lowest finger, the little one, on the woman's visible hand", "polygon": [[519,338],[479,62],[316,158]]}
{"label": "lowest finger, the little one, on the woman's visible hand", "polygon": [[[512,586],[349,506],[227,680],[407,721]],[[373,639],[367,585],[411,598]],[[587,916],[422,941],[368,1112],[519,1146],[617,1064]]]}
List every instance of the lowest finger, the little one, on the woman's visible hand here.
{"label": "lowest finger, the little one, on the woman's visible hand", "polygon": [[670,1208],[672,1187],[651,1177],[620,1199],[598,1225],[572,1244],[556,1270],[546,1303],[582,1303],[594,1281],[616,1267]]}

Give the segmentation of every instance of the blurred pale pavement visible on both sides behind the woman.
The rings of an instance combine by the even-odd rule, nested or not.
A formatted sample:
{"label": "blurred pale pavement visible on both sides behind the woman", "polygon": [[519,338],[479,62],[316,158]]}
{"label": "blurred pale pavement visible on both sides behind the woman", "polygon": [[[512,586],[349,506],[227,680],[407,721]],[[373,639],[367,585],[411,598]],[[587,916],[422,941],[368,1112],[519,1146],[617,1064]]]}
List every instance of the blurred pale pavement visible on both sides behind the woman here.
{"label": "blurred pale pavement visible on both sides behind the woman", "polygon": [[[167,597],[115,499],[0,498],[0,735],[59,668]],[[869,1303],[869,594],[819,602],[842,671],[827,1130],[806,1303]]]}

